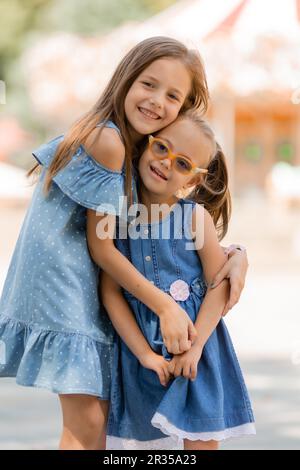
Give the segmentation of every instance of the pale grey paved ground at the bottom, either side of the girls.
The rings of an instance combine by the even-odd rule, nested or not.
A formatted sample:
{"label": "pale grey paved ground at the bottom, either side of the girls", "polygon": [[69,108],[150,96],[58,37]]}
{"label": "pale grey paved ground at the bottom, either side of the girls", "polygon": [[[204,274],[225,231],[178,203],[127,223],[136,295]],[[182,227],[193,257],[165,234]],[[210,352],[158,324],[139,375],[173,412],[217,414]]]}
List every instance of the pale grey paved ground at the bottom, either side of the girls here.
{"label": "pale grey paved ground at the bottom, either side of the girls", "polygon": [[[223,449],[300,450],[300,366],[284,360],[243,360],[257,436]],[[0,449],[55,449],[60,433],[56,396],[1,381]]]}

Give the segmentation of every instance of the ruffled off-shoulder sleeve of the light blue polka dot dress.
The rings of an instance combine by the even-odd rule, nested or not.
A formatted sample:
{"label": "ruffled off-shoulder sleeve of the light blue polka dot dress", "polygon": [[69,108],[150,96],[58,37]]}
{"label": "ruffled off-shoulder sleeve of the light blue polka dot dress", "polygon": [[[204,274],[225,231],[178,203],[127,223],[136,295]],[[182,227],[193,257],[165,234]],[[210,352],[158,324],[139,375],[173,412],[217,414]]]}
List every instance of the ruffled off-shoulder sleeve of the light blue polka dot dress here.
{"label": "ruffled off-shoulder sleeve of the light blue polka dot dress", "polygon": [[[36,160],[48,168],[61,135],[32,152]],[[125,172],[104,167],[80,145],[71,160],[53,178],[70,199],[88,209],[120,215],[125,203]]]}

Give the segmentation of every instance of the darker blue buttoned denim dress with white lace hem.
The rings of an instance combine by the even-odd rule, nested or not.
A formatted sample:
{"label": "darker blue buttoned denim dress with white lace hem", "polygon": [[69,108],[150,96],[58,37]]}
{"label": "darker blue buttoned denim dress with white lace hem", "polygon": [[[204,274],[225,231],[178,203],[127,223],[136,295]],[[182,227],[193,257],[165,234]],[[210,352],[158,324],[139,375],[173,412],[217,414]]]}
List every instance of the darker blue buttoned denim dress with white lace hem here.
{"label": "darker blue buttoned denim dress with white lace hem", "polygon": [[[168,217],[140,224],[135,227],[138,237],[118,239],[117,246],[195,322],[206,284],[192,242],[193,208],[194,202],[181,199]],[[187,249],[188,244],[192,249]],[[170,360],[157,315],[128,292],[124,295],[150,347]],[[157,374],[143,368],[120,339],[115,343],[112,371],[108,435],[120,441],[143,441],[148,448],[145,441],[166,437],[179,442],[255,434],[248,392],[223,320],[204,347],[195,381],[177,377],[163,387]]]}

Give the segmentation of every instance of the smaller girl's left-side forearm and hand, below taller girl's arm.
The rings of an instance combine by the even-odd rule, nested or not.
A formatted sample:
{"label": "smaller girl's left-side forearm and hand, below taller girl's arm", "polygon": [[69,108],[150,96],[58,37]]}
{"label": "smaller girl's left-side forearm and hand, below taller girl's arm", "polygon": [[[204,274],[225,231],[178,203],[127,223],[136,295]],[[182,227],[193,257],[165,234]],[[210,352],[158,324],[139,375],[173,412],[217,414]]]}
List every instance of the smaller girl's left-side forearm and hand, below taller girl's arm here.
{"label": "smaller girl's left-side forearm and hand, below taller girl's arm", "polygon": [[168,362],[150,348],[120,287],[104,271],[101,273],[101,297],[103,305],[119,336],[140,364],[147,369],[154,370],[158,375],[160,383],[167,385],[170,378]]}

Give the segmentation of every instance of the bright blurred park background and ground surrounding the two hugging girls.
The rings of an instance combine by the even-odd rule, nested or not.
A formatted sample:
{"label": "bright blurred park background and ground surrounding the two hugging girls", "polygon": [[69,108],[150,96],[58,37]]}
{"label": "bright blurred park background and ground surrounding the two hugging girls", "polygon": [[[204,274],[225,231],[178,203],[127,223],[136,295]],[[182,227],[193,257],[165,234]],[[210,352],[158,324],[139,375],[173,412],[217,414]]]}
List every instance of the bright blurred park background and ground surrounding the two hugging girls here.
{"label": "bright blurred park background and ground surrounding the two hugging girls", "polygon": [[[300,0],[1,0],[0,289],[33,186],[31,150],[100,95],[132,46],[199,49],[228,158],[247,285],[228,315],[257,436],[224,449],[300,449]],[[0,386],[0,448],[55,448],[55,397]],[[28,425],[30,420],[30,426]]]}

